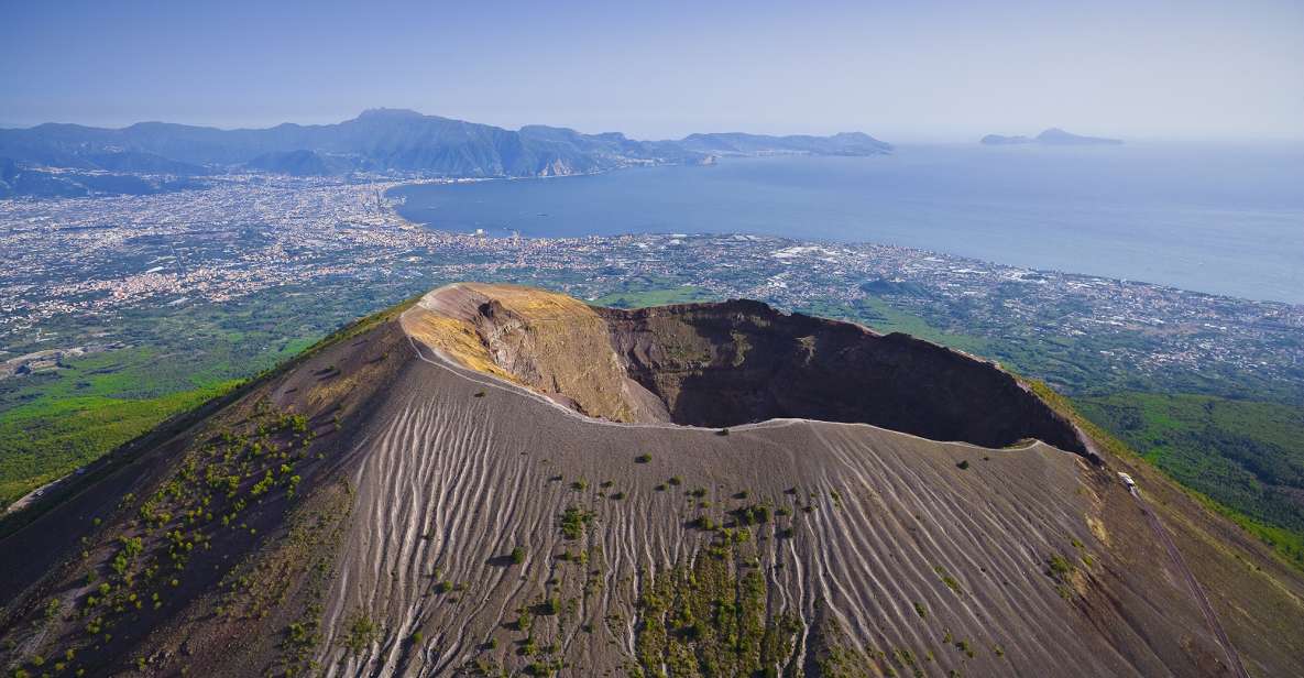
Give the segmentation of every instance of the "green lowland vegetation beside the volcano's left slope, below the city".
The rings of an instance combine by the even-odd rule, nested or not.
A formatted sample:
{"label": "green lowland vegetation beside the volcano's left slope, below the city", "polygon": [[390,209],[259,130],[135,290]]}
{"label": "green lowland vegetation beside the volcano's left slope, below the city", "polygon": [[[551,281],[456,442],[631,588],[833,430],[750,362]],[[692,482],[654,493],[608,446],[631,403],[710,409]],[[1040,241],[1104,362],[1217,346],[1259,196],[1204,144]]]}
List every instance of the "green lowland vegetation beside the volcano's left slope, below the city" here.
{"label": "green lowland vegetation beside the volcano's left slope, below the city", "polygon": [[[286,286],[223,304],[125,309],[110,323],[83,316],[43,321],[33,340],[0,348],[22,355],[52,346],[125,347],[0,379],[0,507],[293,359],[329,332],[340,338],[393,317],[404,306],[346,325],[426,283],[407,284],[356,286],[329,305],[304,304],[319,293],[316,287]],[[50,336],[60,340],[47,343]]]}

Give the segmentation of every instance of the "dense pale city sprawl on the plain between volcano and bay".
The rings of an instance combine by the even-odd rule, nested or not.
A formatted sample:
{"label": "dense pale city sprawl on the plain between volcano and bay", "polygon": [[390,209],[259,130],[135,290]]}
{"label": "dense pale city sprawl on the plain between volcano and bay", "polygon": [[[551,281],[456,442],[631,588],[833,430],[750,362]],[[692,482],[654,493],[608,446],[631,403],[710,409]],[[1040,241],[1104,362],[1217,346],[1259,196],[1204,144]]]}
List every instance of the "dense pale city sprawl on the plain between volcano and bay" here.
{"label": "dense pale city sprawl on the plain between volcano and bay", "polygon": [[[748,235],[484,237],[402,219],[393,181],[231,175],[154,196],[0,201],[0,362],[44,322],[224,302],[282,286],[522,280],[596,299],[631,283],[788,309],[878,299],[957,334],[1072,342],[1114,369],[1231,369],[1304,381],[1304,306],[1038,271],[875,244]],[[854,316],[854,313],[853,313]],[[1111,340],[1114,338],[1114,340]],[[55,340],[67,343],[69,338]]]}

